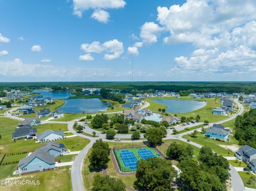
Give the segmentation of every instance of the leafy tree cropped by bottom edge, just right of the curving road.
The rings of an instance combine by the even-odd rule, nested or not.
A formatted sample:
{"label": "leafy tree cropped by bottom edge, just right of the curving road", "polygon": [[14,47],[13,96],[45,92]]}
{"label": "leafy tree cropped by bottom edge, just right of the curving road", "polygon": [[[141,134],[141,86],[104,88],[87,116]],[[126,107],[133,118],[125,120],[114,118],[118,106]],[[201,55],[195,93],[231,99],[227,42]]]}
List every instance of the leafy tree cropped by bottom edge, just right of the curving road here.
{"label": "leafy tree cropped by bottom edge, just right of the curving road", "polygon": [[125,191],[125,184],[122,180],[111,178],[108,175],[95,175],[92,186],[92,191]]}

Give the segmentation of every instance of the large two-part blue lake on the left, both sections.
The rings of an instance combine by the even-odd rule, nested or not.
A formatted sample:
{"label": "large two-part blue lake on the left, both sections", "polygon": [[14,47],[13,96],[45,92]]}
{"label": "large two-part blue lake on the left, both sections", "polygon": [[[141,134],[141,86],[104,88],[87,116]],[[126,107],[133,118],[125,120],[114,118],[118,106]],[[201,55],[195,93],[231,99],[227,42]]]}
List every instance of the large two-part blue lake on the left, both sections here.
{"label": "large two-part blue lake on the left, both sections", "polygon": [[64,99],[65,104],[60,107],[67,113],[96,113],[99,110],[106,110],[111,105],[109,102],[102,102],[99,98],[89,99],[67,99],[67,97],[75,96],[70,92],[49,92],[46,90],[35,90],[34,93],[41,94],[44,97],[52,99]]}

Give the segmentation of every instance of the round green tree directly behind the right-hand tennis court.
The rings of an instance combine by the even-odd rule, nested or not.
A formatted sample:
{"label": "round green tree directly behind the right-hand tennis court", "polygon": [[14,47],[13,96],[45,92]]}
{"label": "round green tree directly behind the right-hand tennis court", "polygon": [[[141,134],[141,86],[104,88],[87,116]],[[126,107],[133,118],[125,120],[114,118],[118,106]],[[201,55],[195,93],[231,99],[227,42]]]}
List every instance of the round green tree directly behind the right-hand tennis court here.
{"label": "round green tree directly behind the right-hand tennis court", "polygon": [[148,143],[150,146],[156,146],[162,144],[162,138],[164,137],[164,133],[159,128],[150,128],[144,134],[144,137],[148,139]]}

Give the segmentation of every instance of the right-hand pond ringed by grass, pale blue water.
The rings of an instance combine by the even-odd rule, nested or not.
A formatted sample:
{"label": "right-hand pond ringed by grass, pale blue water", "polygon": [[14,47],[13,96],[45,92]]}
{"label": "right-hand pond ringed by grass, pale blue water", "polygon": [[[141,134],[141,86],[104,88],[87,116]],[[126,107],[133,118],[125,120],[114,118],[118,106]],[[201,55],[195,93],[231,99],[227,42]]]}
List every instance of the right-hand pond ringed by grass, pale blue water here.
{"label": "right-hand pond ringed by grass, pale blue water", "polygon": [[198,110],[206,105],[204,101],[178,100],[178,99],[151,99],[154,102],[167,106],[166,111],[170,113],[186,113]]}

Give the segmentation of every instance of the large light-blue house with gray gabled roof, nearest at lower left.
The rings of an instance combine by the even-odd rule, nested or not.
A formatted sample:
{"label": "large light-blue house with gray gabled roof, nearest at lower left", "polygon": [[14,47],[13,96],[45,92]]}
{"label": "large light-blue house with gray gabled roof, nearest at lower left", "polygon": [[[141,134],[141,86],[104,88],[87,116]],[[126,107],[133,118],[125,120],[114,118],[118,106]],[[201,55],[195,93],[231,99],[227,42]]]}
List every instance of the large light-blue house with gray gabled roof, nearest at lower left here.
{"label": "large light-blue house with gray gabled roof, nearest at lower left", "polygon": [[55,157],[50,155],[48,151],[40,149],[35,150],[27,157],[21,159],[18,164],[18,170],[21,173],[44,171],[55,168]]}

